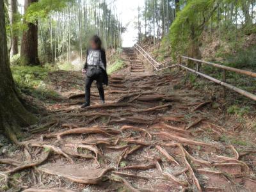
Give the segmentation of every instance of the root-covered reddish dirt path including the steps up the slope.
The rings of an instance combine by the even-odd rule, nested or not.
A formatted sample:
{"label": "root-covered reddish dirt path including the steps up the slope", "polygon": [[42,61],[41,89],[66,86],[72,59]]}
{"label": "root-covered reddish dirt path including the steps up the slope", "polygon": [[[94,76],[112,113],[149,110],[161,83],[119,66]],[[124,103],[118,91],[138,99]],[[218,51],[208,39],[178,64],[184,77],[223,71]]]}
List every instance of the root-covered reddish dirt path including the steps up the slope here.
{"label": "root-covered reddish dirt path including the steps up the slope", "polygon": [[175,88],[181,73],[146,72],[132,49],[123,59],[127,75],[109,77],[106,104],[93,84],[86,109],[80,72],[49,74],[62,99],[44,105],[24,147],[1,155],[1,190],[255,191],[255,134],[225,116],[225,100],[216,108]]}

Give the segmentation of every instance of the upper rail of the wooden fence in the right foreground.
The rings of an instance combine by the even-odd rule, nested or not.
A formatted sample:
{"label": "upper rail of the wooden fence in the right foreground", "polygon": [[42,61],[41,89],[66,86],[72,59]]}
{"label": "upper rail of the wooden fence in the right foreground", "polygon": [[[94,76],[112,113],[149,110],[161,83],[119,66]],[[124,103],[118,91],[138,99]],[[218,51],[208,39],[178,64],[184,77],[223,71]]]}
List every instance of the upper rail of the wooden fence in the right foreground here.
{"label": "upper rail of the wooden fence in the right foreground", "polygon": [[197,60],[197,59],[194,59],[194,58],[189,58],[187,56],[181,56],[181,57],[184,58],[184,59],[191,60],[191,61],[197,61],[199,63],[205,63],[207,65],[212,65],[212,66],[217,67],[217,68],[222,68],[222,69],[229,70],[229,71],[232,71],[232,72],[237,72],[239,74],[243,74],[243,75],[246,75],[246,76],[256,77],[255,72],[250,72],[250,71],[247,71],[247,70],[242,70],[242,69],[238,69],[238,68],[234,68],[234,67],[227,67],[225,65],[211,63],[211,62],[208,62],[208,61]]}

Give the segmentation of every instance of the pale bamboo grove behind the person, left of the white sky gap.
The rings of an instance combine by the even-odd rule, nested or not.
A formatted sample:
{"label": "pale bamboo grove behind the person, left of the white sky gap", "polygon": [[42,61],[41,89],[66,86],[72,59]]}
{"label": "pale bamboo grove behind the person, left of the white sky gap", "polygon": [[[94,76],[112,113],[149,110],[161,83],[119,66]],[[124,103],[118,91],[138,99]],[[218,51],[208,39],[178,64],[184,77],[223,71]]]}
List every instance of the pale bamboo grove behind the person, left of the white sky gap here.
{"label": "pale bamboo grove behind the person, left of the white sky gap", "polygon": [[[42,38],[42,50],[45,51],[50,45],[53,61],[63,56],[63,53],[66,54],[67,61],[71,61],[71,53],[74,50],[79,52],[82,60],[88,39],[95,34],[102,38],[106,49],[117,49],[121,46],[122,26],[112,0],[78,0],[69,3],[62,12],[51,15],[48,22],[48,25],[44,23],[44,29],[41,28],[40,38]],[[51,43],[47,46],[45,40],[49,36]]]}

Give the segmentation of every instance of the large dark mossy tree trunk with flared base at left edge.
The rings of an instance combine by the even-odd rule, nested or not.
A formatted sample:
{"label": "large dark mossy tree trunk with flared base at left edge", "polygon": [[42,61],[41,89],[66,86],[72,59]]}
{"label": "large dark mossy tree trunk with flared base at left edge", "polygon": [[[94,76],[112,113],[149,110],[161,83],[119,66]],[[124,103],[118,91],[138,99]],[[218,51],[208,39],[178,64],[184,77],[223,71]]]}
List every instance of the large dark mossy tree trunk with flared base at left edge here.
{"label": "large dark mossy tree trunk with flared base at left edge", "polygon": [[6,29],[4,19],[4,0],[0,0],[0,131],[10,140],[17,142],[21,126],[36,122],[35,116],[29,113],[22,103],[15,88],[8,57]]}

